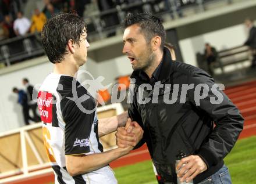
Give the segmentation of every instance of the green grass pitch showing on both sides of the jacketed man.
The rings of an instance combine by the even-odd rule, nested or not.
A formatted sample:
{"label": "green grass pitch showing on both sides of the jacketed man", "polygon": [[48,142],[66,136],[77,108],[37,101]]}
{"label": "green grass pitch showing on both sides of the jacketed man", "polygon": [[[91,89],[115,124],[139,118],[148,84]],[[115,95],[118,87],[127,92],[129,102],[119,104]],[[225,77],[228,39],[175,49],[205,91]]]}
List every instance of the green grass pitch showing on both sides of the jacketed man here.
{"label": "green grass pitch showing on both sides of the jacketed man", "polygon": [[[256,136],[238,140],[225,158],[233,184],[255,183]],[[157,184],[151,161],[115,168],[119,184]]]}

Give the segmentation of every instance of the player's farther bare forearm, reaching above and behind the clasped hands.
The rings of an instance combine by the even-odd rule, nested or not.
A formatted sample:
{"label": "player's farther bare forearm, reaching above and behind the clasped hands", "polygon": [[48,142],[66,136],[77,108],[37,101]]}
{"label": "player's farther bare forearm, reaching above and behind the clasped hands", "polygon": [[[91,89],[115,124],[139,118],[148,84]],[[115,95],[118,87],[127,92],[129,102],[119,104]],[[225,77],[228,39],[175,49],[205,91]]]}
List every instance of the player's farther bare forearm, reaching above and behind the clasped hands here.
{"label": "player's farther bare forearm, reaching above and behind the clasped hands", "polygon": [[127,111],[125,111],[122,114],[119,114],[118,116],[99,119],[99,124],[98,124],[99,137],[116,131],[118,127],[124,127],[127,121],[127,116],[128,116]]}

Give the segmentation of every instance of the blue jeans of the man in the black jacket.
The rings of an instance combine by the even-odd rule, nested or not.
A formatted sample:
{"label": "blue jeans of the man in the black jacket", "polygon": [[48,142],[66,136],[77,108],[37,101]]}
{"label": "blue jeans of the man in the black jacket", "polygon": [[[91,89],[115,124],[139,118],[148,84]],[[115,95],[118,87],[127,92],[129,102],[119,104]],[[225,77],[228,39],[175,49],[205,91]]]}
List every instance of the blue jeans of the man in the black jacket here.
{"label": "blue jeans of the man in the black jacket", "polygon": [[223,165],[219,171],[198,184],[232,184],[229,169]]}

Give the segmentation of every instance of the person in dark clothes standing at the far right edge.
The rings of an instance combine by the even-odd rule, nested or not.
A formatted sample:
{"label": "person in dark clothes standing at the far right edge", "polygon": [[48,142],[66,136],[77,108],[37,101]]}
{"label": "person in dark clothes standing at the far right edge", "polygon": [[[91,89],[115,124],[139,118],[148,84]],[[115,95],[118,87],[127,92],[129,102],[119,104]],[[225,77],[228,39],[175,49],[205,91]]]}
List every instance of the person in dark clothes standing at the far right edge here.
{"label": "person in dark clothes standing at the far right edge", "polygon": [[253,25],[253,20],[248,18],[244,21],[244,24],[246,24],[246,27],[248,28],[248,31],[249,31],[248,39],[244,43],[244,45],[247,45],[250,47],[253,55],[253,60],[251,61],[251,67],[256,68],[256,27]]}

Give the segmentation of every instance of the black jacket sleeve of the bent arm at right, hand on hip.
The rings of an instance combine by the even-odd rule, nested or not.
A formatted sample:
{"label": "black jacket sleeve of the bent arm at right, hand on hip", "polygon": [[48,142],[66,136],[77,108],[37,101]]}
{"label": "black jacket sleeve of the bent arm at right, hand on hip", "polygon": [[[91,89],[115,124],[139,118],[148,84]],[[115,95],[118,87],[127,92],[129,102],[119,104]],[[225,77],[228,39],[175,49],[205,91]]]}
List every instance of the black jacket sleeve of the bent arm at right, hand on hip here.
{"label": "black jacket sleeve of the bent arm at right, hand on hip", "polygon": [[[196,71],[188,80],[189,84],[194,84],[194,90],[188,92],[190,103],[207,113],[216,125],[198,150],[198,155],[202,157],[209,168],[222,160],[233,148],[243,130],[244,119],[239,109],[225,93],[219,88],[215,89],[216,84],[213,78],[205,71]],[[204,87],[199,88],[198,86]],[[205,98],[198,97],[198,93]]]}

